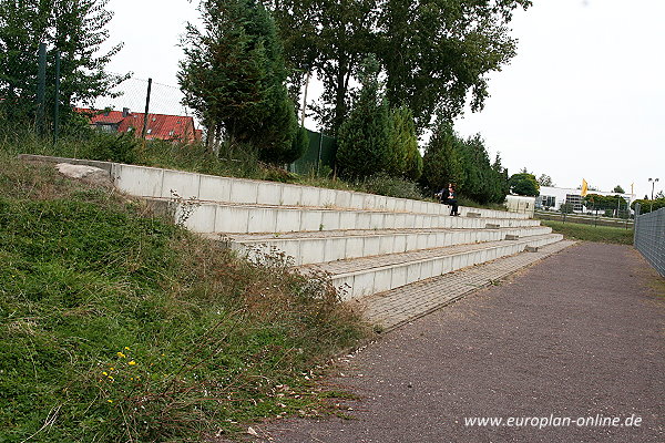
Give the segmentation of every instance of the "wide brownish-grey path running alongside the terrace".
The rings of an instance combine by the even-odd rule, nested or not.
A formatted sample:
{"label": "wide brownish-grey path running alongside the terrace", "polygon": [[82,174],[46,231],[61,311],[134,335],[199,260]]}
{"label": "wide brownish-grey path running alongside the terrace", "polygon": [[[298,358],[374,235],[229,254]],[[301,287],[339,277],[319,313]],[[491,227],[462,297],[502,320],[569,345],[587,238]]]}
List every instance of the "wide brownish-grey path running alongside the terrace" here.
{"label": "wide brownish-grey path running alongside the terrace", "polygon": [[[354,420],[283,420],[270,442],[665,442],[665,295],[634,249],[581,244],[369,346],[334,380]],[[662,290],[661,290],[662,291]],[[467,426],[464,418],[538,418]],[[577,426],[640,418],[640,426]],[[570,425],[544,426],[551,423]]]}

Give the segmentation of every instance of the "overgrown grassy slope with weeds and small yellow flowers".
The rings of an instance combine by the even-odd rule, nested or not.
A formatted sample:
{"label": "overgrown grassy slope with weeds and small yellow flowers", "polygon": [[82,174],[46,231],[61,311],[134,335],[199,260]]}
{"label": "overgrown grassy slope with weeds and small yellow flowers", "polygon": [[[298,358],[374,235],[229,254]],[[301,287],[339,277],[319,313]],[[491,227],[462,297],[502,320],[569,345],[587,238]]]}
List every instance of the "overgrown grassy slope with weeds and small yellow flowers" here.
{"label": "overgrown grassy slope with weeds and small yellow flowers", "polygon": [[[367,333],[325,279],[0,152],[0,441],[197,441],[318,409]],[[246,427],[245,427],[246,429]]]}

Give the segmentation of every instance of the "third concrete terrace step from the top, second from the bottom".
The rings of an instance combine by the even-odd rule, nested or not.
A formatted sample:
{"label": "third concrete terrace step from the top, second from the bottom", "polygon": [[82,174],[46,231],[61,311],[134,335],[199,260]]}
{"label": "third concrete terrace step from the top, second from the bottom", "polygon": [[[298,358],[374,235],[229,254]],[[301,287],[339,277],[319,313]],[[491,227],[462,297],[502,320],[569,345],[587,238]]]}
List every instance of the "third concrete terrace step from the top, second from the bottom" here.
{"label": "third concrete terrace step from the top, second from the bottom", "polygon": [[331,230],[263,235],[208,235],[223,238],[229,246],[253,257],[282,251],[294,258],[294,265],[335,261],[446,247],[462,244],[498,241],[509,236],[529,237],[552,231],[546,226],[494,229],[382,229]]}

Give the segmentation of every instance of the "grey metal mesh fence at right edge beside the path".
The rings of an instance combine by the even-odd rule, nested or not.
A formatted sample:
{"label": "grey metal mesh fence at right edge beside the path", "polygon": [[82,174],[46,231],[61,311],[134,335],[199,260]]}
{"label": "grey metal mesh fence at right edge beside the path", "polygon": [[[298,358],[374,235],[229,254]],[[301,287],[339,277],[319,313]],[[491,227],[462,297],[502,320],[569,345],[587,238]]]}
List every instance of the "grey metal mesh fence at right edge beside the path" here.
{"label": "grey metal mesh fence at right edge beside the path", "polygon": [[665,208],[640,215],[635,205],[635,248],[665,277]]}

